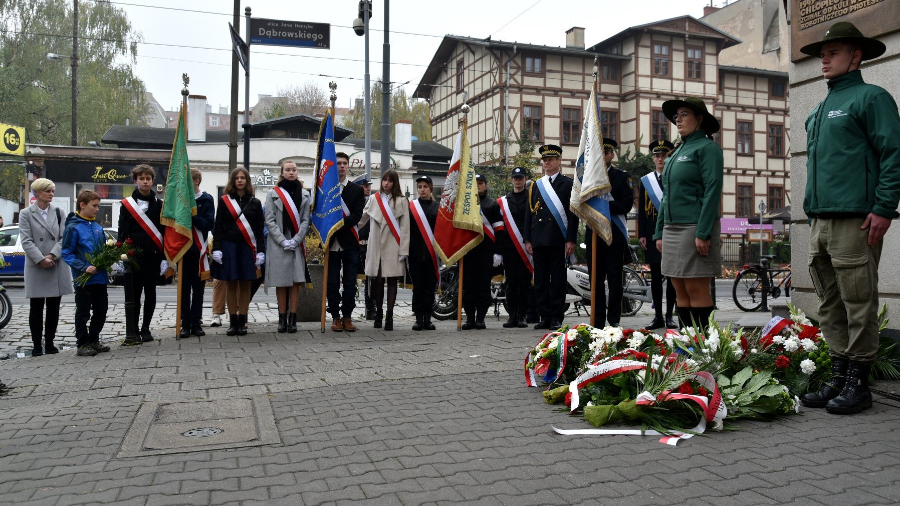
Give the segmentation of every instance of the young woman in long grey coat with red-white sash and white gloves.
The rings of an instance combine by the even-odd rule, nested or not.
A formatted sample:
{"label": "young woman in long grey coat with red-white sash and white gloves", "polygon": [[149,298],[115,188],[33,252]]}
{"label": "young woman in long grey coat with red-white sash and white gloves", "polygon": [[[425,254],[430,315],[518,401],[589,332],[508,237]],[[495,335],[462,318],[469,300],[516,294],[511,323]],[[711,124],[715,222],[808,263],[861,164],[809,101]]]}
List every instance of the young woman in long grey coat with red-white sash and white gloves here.
{"label": "young woman in long grey coat with red-white sash and white gloves", "polygon": [[278,331],[297,331],[300,284],[309,282],[303,238],[310,229],[310,195],[297,179],[297,164],[282,162],[275,187],[266,194],[266,294],[275,286]]}

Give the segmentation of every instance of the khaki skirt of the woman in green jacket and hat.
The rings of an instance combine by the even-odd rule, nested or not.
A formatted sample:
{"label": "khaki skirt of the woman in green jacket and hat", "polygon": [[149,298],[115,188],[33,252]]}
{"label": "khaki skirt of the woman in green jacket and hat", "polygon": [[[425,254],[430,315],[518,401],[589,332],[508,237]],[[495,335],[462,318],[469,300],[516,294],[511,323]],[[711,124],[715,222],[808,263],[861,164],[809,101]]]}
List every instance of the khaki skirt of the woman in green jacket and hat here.
{"label": "khaki skirt of the woman in green jacket and hat", "polygon": [[697,252],[697,225],[670,223],[662,228],[662,274],[671,277],[715,277],[722,274],[722,225],[716,220],[709,239],[709,254]]}

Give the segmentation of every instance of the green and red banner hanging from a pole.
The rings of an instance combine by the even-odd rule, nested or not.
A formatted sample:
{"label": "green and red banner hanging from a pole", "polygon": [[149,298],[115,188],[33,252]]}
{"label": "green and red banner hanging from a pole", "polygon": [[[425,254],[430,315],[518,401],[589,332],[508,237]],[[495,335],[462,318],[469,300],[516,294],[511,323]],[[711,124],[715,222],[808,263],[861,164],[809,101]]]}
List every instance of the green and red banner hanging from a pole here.
{"label": "green and red banner hanging from a pole", "polygon": [[193,245],[191,217],[196,213],[197,202],[193,198],[193,178],[187,161],[187,132],[184,128],[184,105],[182,105],[181,112],[178,113],[172,158],[169,160],[163,212],[159,218],[159,222],[168,228],[163,235],[163,245],[166,260],[170,264],[175,264]]}

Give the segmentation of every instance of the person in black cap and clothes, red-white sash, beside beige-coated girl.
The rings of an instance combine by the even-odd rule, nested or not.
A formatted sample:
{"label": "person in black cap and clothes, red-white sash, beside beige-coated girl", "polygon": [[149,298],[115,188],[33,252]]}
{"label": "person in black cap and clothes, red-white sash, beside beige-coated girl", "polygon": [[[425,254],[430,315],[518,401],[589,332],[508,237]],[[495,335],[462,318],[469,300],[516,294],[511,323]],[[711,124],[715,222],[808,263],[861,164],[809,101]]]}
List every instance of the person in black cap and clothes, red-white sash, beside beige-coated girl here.
{"label": "person in black cap and clothes, red-white sash, beside beige-coated girl", "polygon": [[416,179],[419,198],[410,202],[410,276],[412,276],[412,312],[416,323],[412,330],[435,330],[431,323],[431,308],[435,303],[438,264],[435,252],[435,222],[437,207],[431,195],[431,177]]}

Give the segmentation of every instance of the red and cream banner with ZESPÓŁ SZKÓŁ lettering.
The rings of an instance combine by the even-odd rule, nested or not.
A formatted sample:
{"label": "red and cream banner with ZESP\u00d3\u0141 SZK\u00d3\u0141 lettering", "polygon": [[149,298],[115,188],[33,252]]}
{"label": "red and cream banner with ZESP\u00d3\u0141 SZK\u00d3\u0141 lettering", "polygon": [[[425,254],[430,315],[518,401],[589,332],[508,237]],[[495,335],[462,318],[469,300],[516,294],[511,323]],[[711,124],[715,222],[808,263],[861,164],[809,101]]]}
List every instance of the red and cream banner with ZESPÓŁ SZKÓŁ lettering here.
{"label": "red and cream banner with ZESP\u00d3\u0141 SZK\u00d3\u0141 lettering", "polygon": [[482,204],[478,200],[475,169],[469,164],[466,122],[462,121],[437,209],[435,248],[441,261],[450,266],[482,239]]}

